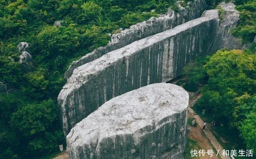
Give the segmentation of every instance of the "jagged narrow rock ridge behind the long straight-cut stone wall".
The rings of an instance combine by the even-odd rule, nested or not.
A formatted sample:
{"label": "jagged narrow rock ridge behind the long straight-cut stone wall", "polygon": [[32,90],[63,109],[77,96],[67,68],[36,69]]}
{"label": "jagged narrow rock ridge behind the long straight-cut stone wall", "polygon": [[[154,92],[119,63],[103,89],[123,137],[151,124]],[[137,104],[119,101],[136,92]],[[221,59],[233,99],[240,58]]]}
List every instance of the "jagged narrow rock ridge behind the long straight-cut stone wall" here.
{"label": "jagged narrow rock ridge behind the long straight-cut stone wall", "polygon": [[99,47],[81,59],[73,61],[66,71],[64,78],[68,79],[77,67],[98,59],[110,51],[200,17],[202,12],[209,7],[206,4],[207,1],[209,0],[194,0],[194,2],[188,2],[186,7],[179,5],[180,11],[178,13],[169,10],[165,15],[161,15],[158,18],[152,17],[150,20],[138,23],[122,30],[120,33],[114,34],[108,45]]}

